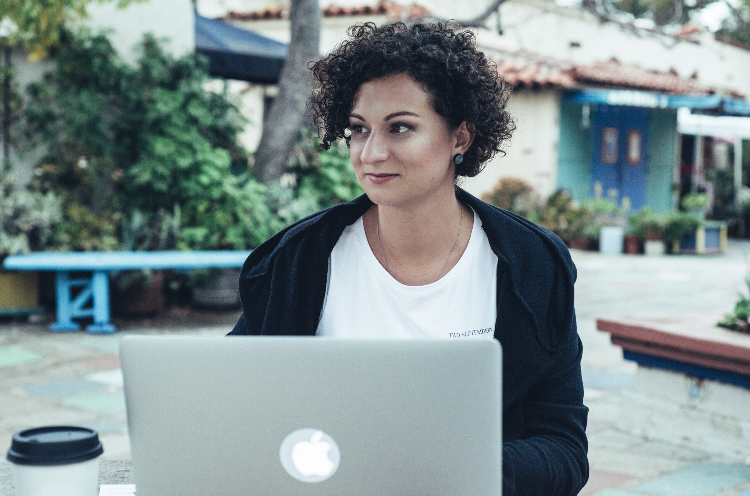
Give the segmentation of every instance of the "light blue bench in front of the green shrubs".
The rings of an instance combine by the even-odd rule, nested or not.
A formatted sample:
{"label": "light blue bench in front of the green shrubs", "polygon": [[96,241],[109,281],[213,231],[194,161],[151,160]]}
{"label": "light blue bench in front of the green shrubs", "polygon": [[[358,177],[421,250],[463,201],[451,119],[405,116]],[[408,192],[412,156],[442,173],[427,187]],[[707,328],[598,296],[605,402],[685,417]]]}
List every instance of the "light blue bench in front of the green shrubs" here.
{"label": "light blue bench in front of the green shrubs", "polygon": [[[5,258],[9,270],[54,270],[57,321],[49,326],[53,333],[80,330],[74,318],[93,317],[86,327],[92,334],[111,334],[110,279],[113,270],[242,267],[251,251],[204,252],[37,252]],[[71,271],[92,272],[91,278],[71,279]],[[72,288],[83,288],[71,298]],[[86,307],[89,303],[91,307]]]}

